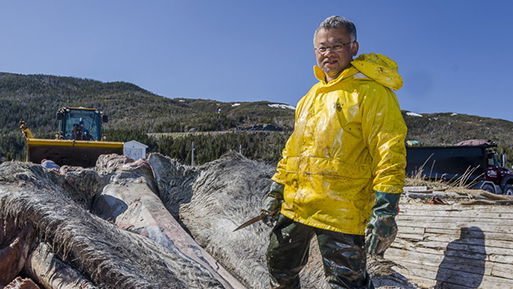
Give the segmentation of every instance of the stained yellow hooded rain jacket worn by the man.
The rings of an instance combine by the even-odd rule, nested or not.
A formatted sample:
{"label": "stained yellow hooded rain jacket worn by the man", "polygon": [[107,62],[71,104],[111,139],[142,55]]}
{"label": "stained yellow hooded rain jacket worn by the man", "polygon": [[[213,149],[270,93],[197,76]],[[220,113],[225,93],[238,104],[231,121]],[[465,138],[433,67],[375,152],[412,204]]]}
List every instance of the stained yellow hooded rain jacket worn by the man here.
{"label": "stained yellow hooded rain jacket worn by the man", "polygon": [[397,65],[364,54],[337,79],[319,83],[296,107],[290,136],[272,179],[284,184],[281,213],[309,226],[363,235],[374,191],[402,192],[406,125],[395,93]]}

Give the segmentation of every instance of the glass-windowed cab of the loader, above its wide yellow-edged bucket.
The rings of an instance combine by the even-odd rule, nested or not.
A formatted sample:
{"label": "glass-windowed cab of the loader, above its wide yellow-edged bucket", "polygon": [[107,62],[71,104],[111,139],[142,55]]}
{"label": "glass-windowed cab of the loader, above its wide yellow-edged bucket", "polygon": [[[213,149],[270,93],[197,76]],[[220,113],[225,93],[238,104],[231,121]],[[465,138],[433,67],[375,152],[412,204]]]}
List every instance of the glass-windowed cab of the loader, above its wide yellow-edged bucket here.
{"label": "glass-windowed cab of the loader, above its wide yellow-edged bucket", "polygon": [[101,122],[108,118],[92,108],[64,107],[57,112],[57,139],[101,141]]}

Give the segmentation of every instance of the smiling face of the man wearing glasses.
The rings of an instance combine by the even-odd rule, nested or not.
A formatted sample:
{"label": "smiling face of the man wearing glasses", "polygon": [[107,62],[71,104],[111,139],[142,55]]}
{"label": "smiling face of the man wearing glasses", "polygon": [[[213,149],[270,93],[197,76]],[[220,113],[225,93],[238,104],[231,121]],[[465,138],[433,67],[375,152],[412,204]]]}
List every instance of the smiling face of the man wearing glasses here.
{"label": "smiling face of the man wearing glasses", "polygon": [[[326,75],[326,82],[329,82],[337,78],[344,69],[351,66],[353,56],[358,53],[358,42],[343,45],[351,42],[351,37],[347,34],[346,29],[333,28],[324,29],[321,28],[317,31],[315,36],[314,45],[316,48],[330,47],[324,53],[315,51],[315,57],[317,58],[317,65],[324,71]],[[333,46],[342,45],[341,51],[333,51]]]}

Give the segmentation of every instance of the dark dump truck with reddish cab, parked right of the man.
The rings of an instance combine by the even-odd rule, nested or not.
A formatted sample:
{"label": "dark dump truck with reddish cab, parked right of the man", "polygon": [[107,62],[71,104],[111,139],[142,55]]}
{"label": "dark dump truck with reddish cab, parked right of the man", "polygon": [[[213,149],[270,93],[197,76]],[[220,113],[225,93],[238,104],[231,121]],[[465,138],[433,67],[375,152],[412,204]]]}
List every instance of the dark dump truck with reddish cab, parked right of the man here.
{"label": "dark dump truck with reddish cab, parked right of the man", "polygon": [[[461,179],[471,189],[513,195],[513,174],[504,155],[489,140],[468,140],[451,146],[406,146],[406,174],[428,179]],[[501,162],[499,162],[499,159]]]}

